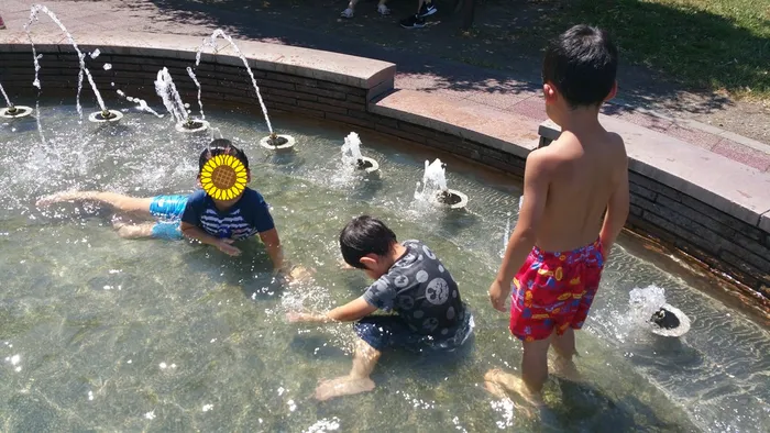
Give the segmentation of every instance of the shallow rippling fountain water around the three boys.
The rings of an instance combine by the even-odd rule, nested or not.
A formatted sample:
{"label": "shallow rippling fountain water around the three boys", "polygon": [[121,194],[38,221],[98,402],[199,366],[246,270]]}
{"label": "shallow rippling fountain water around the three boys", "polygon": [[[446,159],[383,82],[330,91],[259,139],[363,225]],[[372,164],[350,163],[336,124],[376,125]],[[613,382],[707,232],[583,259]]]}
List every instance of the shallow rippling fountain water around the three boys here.
{"label": "shallow rippling fountain water around the three boys", "polygon": [[[187,242],[121,240],[106,210],[34,207],[73,188],[190,192],[205,134],[179,134],[168,119],[133,110],[118,125],[78,124],[74,107],[56,104],[41,107],[40,130],[33,119],[0,123],[0,430],[770,430],[770,332],[623,247],[579,336],[587,385],[551,379],[541,421],[493,398],[484,373],[517,369],[521,354],[486,297],[519,186],[364,132],[362,153],[382,175],[342,175],[350,129],[273,118],[297,138],[297,155],[258,147],[261,115],[207,108],[212,126],[245,148],[251,187],[273,207],[287,254],[317,269],[314,285],[272,282],[258,242],[230,258]],[[468,212],[411,207],[424,162],[435,157],[448,163],[449,187],[471,198]],[[350,368],[351,330],[284,317],[362,292],[364,276],[337,266],[339,230],[361,213],[437,252],[474,311],[476,336],[452,356],[388,354],[373,392],[318,403],[317,381]],[[690,317],[686,335],[624,326],[628,292],[649,285]]]}

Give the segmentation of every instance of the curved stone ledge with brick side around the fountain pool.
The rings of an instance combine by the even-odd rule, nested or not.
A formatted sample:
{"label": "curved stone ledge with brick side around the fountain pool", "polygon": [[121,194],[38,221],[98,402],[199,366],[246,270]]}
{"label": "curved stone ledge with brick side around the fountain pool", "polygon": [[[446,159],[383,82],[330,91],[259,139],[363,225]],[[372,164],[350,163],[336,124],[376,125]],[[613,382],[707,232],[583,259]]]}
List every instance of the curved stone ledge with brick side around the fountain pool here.
{"label": "curved stone ledge with brick side around the fountain pool", "polygon": [[[35,33],[33,37],[37,52],[43,54],[43,92],[73,89],[78,70],[74,49],[59,45],[66,40],[58,33]],[[87,64],[102,89],[154,97],[155,74],[165,66],[183,98],[195,100],[197,89],[185,68],[194,65],[195,49],[202,38],[133,33],[131,41],[125,34],[110,33],[78,33],[75,37],[82,52],[101,52],[97,59],[87,58]],[[393,64],[285,45],[235,42],[249,58],[271,111],[352,124],[519,177],[527,155],[538,147],[538,129],[544,141],[559,133],[529,118],[469,100],[394,91]],[[0,34],[0,81],[7,90],[30,95],[34,69],[26,36],[21,32]],[[103,70],[105,63],[112,68]],[[257,104],[242,62],[230,47],[216,55],[205,53],[196,75],[205,101]],[[84,84],[84,100],[88,100],[89,92]],[[106,99],[108,106],[114,103],[113,96]],[[748,292],[766,309],[770,308],[770,176],[627,122],[612,118],[602,121],[624,136],[628,146],[628,227],[725,273],[750,288]]]}

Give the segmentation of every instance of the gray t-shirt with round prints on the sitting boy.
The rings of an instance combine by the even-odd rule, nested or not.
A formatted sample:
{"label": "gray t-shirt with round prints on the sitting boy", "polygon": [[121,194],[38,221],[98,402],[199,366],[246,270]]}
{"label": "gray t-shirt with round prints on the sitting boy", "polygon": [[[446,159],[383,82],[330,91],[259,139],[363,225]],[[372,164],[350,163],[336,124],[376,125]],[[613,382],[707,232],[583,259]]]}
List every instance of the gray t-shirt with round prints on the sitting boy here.
{"label": "gray t-shirt with round prints on the sitting boy", "polygon": [[458,284],[427,245],[402,243],[406,253],[364,292],[371,306],[395,311],[413,331],[452,336],[465,318]]}

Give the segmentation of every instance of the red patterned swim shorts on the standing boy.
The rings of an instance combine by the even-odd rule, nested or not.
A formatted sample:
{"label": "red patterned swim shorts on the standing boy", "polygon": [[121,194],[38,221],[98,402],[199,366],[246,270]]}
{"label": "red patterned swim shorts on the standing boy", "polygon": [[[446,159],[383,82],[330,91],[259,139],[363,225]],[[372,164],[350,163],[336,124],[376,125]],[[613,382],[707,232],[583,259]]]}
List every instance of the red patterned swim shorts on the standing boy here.
{"label": "red patterned swim shorts on the standing boy", "polygon": [[579,330],[598,289],[604,267],[602,244],[565,253],[537,246],[516,274],[510,303],[510,332],[526,342],[548,338],[568,326]]}

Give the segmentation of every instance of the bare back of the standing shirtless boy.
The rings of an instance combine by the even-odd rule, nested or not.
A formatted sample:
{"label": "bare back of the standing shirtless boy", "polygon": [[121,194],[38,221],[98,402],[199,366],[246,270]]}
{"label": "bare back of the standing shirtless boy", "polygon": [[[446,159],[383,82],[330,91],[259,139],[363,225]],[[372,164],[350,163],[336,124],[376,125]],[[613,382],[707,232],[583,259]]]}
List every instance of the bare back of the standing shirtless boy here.
{"label": "bare back of the standing shirtless boy", "polygon": [[564,131],[551,145],[534,152],[528,168],[530,164],[537,173],[526,176],[548,182],[537,245],[544,251],[564,252],[596,241],[602,218],[608,208],[619,206],[614,201],[628,185],[623,138],[601,126],[593,131]]}

